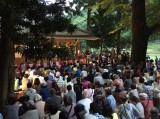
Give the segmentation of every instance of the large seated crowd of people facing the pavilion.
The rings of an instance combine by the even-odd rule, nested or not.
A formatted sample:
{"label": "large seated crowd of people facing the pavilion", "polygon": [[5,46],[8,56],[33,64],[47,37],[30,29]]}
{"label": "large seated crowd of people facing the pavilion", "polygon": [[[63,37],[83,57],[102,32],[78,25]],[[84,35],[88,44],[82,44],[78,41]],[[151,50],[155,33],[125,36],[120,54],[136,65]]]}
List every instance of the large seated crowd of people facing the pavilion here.
{"label": "large seated crowd of people facing the pavilion", "polygon": [[145,64],[119,56],[105,65],[16,67],[15,95],[0,119],[160,119],[159,68]]}

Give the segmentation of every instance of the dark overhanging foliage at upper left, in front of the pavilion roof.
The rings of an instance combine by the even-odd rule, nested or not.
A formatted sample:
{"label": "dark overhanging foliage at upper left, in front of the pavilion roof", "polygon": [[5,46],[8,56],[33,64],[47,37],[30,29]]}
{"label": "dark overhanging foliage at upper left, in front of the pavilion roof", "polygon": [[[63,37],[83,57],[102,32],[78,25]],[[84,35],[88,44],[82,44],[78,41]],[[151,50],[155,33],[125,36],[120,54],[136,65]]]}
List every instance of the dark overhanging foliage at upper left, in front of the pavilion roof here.
{"label": "dark overhanging foliage at upper left, in front of the pavilion roof", "polygon": [[[23,48],[18,46],[16,51],[28,60],[51,59],[57,50],[62,54],[66,53],[62,48],[54,52],[54,42],[48,40],[48,36],[56,31],[67,30],[72,33],[76,28],[76,25],[71,24],[71,19],[64,14],[70,12],[65,0],[56,0],[49,5],[44,0],[15,0],[14,2],[2,0],[0,10],[4,11],[0,12],[0,17],[8,18],[8,24],[2,26],[2,31],[8,30],[8,34],[5,32],[8,36],[12,33],[11,39],[14,43],[25,45]],[[62,57],[60,53],[59,57]]]}

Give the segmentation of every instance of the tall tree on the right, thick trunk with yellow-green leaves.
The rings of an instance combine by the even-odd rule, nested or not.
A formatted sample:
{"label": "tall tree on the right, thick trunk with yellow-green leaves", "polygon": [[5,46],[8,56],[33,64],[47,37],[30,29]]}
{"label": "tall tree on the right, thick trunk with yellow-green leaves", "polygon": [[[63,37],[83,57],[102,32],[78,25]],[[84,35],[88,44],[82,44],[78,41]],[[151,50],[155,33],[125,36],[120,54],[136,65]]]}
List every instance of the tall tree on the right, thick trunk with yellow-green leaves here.
{"label": "tall tree on the right, thick trunk with yellow-green leaves", "polygon": [[[123,4],[119,5],[110,5],[111,11],[115,8],[121,8],[122,14],[124,14],[124,10],[127,8],[128,13],[132,13],[132,21],[126,22],[126,17],[122,17],[121,21],[122,26],[125,24],[132,24],[132,51],[131,51],[131,59],[137,65],[141,62],[145,62],[146,51],[148,45],[149,37],[160,31],[160,4],[159,0],[121,0],[128,1],[127,6]],[[97,5],[106,6],[106,4],[115,3],[116,0],[102,0],[102,2]],[[130,4],[131,3],[131,4]],[[131,9],[129,6],[131,5]],[[106,14],[110,12],[107,11]],[[125,12],[125,15],[130,15]]]}

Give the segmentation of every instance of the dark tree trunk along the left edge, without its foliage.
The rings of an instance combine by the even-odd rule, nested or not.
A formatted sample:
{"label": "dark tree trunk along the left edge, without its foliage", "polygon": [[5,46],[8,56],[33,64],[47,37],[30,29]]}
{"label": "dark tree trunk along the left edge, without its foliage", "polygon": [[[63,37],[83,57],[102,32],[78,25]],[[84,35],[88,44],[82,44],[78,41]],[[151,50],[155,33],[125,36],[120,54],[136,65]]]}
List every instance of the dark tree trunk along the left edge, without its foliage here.
{"label": "dark tree trunk along the left edge, without its foliage", "polygon": [[12,43],[13,23],[10,12],[1,16],[0,39],[0,112],[7,104],[8,96],[13,95],[14,86],[14,45]]}

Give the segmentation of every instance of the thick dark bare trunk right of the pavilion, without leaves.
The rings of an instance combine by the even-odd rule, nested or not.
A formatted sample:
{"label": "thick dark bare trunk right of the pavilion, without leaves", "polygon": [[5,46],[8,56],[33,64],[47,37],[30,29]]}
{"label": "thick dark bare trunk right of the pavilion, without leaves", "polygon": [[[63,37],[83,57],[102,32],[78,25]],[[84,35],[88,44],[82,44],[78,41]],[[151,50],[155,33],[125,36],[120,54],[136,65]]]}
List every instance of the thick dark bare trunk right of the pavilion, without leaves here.
{"label": "thick dark bare trunk right of the pavilion, without leaves", "polygon": [[145,0],[132,1],[132,52],[131,59],[136,65],[145,62],[148,38]]}

